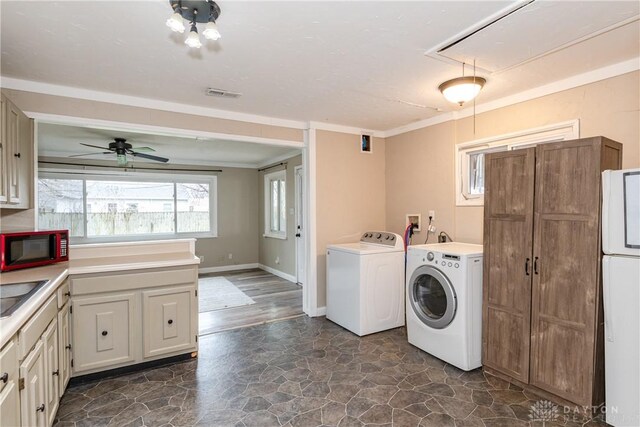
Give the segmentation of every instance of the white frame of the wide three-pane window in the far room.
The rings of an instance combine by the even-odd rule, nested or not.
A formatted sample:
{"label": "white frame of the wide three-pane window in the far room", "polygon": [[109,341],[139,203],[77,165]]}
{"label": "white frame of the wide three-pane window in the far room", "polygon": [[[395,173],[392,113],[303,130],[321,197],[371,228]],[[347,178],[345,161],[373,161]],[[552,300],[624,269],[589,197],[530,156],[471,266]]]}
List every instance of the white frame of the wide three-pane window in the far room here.
{"label": "white frame of the wide three-pane window in the far room", "polygon": [[[82,181],[83,193],[83,236],[70,236],[72,244],[130,242],[140,240],[170,240],[184,238],[215,238],[218,237],[218,177],[217,175],[189,175],[189,174],[158,174],[140,171],[79,171],[77,169],[51,169],[40,168],[39,179],[63,179]],[[134,181],[134,182],[160,182],[174,185],[174,224],[173,233],[135,234],[118,236],[87,236],[87,181]],[[176,199],[176,184],[180,183],[207,183],[209,184],[209,231],[208,232],[178,232],[178,211]],[[36,191],[38,185],[35,185]],[[36,206],[36,215],[39,217],[40,207]],[[38,218],[39,220],[39,218]]]}

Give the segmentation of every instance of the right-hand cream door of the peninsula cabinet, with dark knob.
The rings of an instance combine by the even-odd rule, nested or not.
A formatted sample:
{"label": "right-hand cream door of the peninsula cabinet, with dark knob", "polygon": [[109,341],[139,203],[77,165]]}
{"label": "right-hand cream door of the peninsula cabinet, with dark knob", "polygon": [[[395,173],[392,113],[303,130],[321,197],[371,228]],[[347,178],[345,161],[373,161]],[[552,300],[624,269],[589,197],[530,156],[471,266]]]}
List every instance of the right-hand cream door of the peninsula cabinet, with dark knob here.
{"label": "right-hand cream door of the peninsula cabinet, with dark knob", "polygon": [[142,292],[144,357],[195,349],[194,286]]}

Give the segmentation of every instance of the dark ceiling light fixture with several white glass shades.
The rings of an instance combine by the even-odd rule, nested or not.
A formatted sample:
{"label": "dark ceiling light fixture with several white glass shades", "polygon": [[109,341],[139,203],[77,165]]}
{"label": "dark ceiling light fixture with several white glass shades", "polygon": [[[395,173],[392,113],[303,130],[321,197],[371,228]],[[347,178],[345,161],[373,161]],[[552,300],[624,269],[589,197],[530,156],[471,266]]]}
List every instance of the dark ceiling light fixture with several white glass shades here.
{"label": "dark ceiling light fixture with several white glass shades", "polygon": [[213,0],[169,0],[173,13],[167,19],[167,27],[172,31],[183,33],[185,25],[183,21],[191,24],[191,30],[187,35],[184,43],[192,48],[200,48],[202,42],[198,35],[196,24],[204,24],[202,34],[208,40],[219,40],[220,31],[216,25],[216,20],[220,16],[220,7]]}

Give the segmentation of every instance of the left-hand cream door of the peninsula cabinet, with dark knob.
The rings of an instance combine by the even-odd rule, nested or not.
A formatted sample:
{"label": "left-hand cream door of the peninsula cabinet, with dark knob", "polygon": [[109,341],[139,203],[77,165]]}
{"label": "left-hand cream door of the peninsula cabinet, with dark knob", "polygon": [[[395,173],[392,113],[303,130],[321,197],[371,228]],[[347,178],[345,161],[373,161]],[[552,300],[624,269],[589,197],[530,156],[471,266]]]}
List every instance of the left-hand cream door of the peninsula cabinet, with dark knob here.
{"label": "left-hand cream door of the peninsula cabinet, with dark knob", "polygon": [[76,298],[73,302],[74,372],[135,359],[135,294]]}

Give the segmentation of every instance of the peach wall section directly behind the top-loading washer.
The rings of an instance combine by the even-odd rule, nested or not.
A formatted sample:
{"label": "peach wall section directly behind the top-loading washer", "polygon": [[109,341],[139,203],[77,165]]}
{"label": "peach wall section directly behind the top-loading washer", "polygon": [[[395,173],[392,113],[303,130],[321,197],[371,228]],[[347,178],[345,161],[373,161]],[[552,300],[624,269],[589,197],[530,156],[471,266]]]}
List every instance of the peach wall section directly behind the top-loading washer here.
{"label": "peach wall section directly behind the top-loading washer", "polygon": [[316,132],[316,248],[318,307],[326,303],[326,249],[385,227],[385,141],[360,152],[360,136]]}

